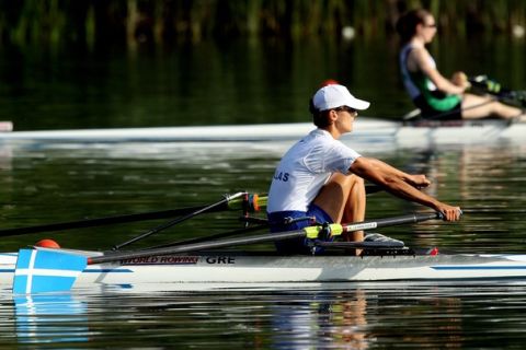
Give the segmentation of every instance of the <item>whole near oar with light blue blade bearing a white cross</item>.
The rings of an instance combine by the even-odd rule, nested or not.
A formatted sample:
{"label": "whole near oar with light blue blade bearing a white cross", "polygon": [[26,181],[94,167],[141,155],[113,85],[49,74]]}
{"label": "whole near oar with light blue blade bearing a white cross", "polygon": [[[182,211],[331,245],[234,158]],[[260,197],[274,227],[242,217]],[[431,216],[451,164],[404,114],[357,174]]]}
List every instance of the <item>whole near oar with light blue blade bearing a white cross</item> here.
{"label": "whole near oar with light blue blade bearing a white cross", "polygon": [[85,269],[87,265],[121,261],[147,256],[180,254],[205,249],[267,243],[296,237],[308,237],[315,240],[320,234],[324,234],[323,232],[327,231],[329,231],[332,235],[340,235],[343,232],[353,232],[358,230],[369,230],[390,225],[415,223],[434,219],[442,219],[442,214],[436,212],[420,213],[371,221],[363,221],[352,224],[308,226],[298,231],[267,233],[261,235],[253,235],[250,237],[227,238],[159,249],[127,253],[107,253],[102,256],[93,257],[75,255],[71,252],[64,252],[58,249],[20,249],[13,279],[13,293],[67,291],[71,289],[75,280]]}

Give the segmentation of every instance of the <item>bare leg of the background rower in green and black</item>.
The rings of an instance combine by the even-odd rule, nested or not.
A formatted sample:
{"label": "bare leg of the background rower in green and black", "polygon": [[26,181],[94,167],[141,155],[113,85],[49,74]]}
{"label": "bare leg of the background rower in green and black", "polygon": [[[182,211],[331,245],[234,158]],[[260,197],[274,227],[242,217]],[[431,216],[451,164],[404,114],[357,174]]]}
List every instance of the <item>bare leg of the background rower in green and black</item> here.
{"label": "bare leg of the background rower in green and black", "polygon": [[462,100],[462,118],[477,119],[494,115],[500,118],[511,119],[524,115],[516,107],[507,106],[491,97],[465,94]]}

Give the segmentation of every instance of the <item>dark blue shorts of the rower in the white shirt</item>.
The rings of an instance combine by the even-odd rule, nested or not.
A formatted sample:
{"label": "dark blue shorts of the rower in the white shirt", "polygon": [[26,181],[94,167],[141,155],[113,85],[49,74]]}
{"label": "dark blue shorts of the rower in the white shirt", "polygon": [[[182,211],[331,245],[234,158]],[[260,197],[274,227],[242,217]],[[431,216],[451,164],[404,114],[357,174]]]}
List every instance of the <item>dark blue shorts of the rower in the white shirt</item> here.
{"label": "dark blue shorts of the rower in the white shirt", "polygon": [[[310,205],[309,210],[305,211],[276,211],[267,213],[271,232],[286,232],[296,231],[310,226],[315,223],[332,223],[332,218],[316,205]],[[308,218],[315,218],[316,222]],[[286,224],[287,219],[296,219],[294,222]],[[299,219],[299,220],[298,220]],[[301,220],[305,219],[305,220]],[[276,241],[276,249],[283,254],[312,254],[310,247],[310,240],[308,238],[291,238],[284,241]],[[321,253],[320,248],[316,249],[316,253]]]}

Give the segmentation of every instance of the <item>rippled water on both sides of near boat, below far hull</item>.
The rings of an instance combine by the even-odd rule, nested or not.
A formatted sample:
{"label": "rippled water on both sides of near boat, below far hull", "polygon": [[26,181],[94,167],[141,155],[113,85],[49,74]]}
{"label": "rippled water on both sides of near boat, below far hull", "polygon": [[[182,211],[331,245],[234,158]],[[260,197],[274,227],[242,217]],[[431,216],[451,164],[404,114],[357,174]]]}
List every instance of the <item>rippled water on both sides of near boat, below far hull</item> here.
{"label": "rippled water on both sides of near boat, below far hull", "polygon": [[[3,145],[2,226],[24,226],[211,203],[227,192],[265,192],[288,144]],[[368,145],[359,145],[368,153]],[[526,148],[456,145],[371,152],[424,173],[434,196],[462,207],[457,224],[381,231],[411,246],[525,253]],[[387,194],[367,217],[425,210]],[[237,212],[204,214],[138,245],[238,228]],[[3,237],[16,249],[41,237],[108,248],[164,221]],[[0,345],[49,348],[522,348],[525,281],[307,285],[100,287],[14,298],[2,292]]]}

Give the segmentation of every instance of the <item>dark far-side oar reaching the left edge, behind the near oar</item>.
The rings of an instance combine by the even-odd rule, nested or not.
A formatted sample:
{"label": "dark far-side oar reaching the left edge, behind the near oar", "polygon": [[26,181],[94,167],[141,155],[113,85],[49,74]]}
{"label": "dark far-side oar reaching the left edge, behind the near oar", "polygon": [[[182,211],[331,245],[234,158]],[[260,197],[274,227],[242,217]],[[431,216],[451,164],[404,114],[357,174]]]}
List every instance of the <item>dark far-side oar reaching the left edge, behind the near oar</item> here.
{"label": "dark far-side oar reaching the left edge, behind the near oar", "polygon": [[[136,214],[124,214],[124,215],[116,215],[116,217],[50,223],[50,224],[26,226],[26,228],[0,229],[0,236],[15,236],[15,235],[22,235],[22,234],[30,234],[30,233],[53,232],[53,231],[61,231],[61,230],[111,225],[111,224],[117,224],[117,223],[168,219],[168,218],[187,215],[196,211],[204,210],[206,208],[208,208],[207,210],[205,210],[206,212],[243,208],[244,199],[239,199],[239,198],[235,199],[231,196],[227,196],[227,197],[230,198],[229,201],[224,202],[224,200],[221,199],[221,205],[214,206],[211,208],[210,208],[210,205],[206,205],[206,206],[187,207],[187,208],[181,208],[181,209],[151,211],[151,212],[136,213]],[[254,200],[256,206],[263,207],[266,203],[266,197],[264,196],[255,197]],[[253,207],[253,205],[251,203],[249,203],[249,206]]]}

